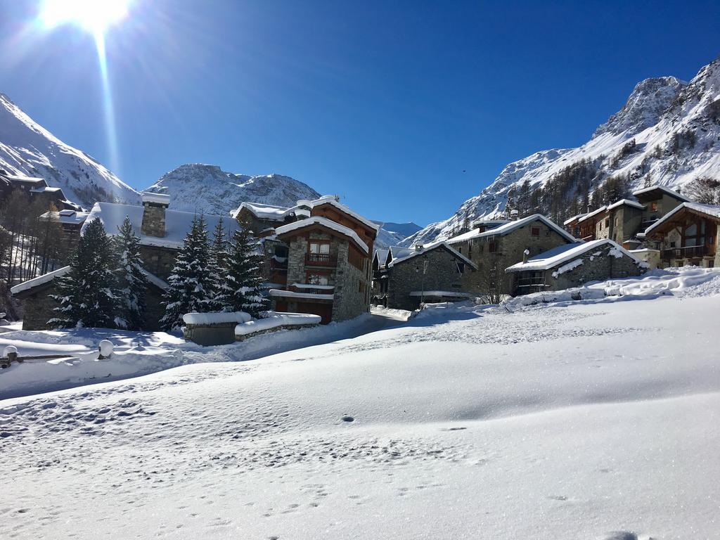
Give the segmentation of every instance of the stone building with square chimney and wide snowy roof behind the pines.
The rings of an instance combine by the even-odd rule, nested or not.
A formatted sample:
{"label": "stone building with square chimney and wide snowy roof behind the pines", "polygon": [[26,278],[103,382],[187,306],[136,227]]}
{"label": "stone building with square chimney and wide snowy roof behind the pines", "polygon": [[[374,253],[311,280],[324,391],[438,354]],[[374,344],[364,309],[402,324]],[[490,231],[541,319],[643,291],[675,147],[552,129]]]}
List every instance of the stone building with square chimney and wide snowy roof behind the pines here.
{"label": "stone building with square chimney and wide snowy roof behind the pines", "polygon": [[[99,219],[109,235],[116,235],[125,216],[130,217],[132,228],[140,238],[140,256],[143,258],[148,279],[148,289],[145,292],[146,329],[158,330],[163,315],[163,290],[167,287],[165,280],[171,274],[195,215],[191,212],[168,210],[170,197],[167,195],[143,193],[142,199],[143,206],[96,202],[84,219],[81,233],[87,223]],[[223,220],[228,236],[238,228],[238,222],[230,217],[204,215],[204,219],[211,231],[218,221]],[[54,308],[57,307],[55,301],[48,296],[55,290],[53,279],[65,274],[69,268],[65,266],[10,289],[14,297],[24,302],[23,330],[47,328],[45,323],[55,316]]]}

